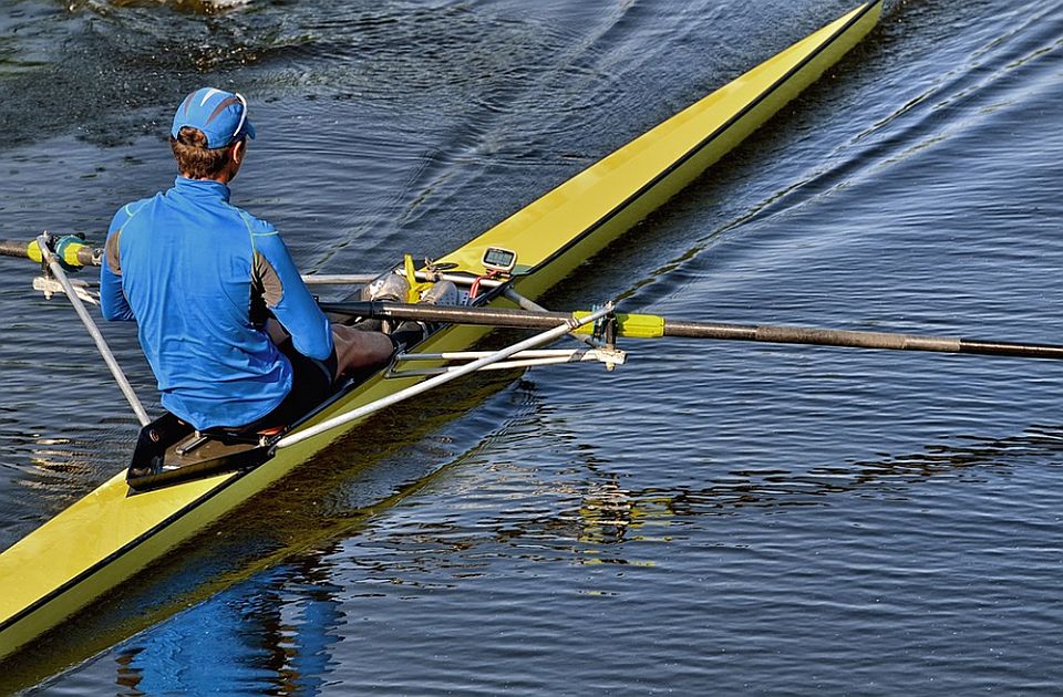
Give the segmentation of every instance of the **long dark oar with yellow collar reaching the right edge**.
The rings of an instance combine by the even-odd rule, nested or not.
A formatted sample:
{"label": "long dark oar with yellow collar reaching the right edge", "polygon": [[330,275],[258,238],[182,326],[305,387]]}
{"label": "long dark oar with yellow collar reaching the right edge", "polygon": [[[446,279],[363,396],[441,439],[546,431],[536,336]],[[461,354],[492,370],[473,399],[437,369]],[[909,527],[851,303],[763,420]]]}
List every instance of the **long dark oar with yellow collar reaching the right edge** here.
{"label": "long dark oar with yellow collar reaching the right edge", "polygon": [[[321,303],[326,312],[351,316],[453,324],[482,324],[514,329],[546,329],[566,320],[587,315],[587,312],[529,312],[496,308],[452,308],[390,302]],[[755,341],[775,344],[811,344],[816,346],[846,346],[852,348],[885,348],[891,351],[933,351],[988,356],[1023,358],[1063,358],[1063,345],[1028,344],[1019,342],[926,336],[895,332],[859,332],[818,329],[812,326],[781,326],[771,324],[722,324],[669,320],[652,314],[616,313],[617,336],[653,339],[677,336],[724,341]],[[582,326],[577,333],[590,333]]]}

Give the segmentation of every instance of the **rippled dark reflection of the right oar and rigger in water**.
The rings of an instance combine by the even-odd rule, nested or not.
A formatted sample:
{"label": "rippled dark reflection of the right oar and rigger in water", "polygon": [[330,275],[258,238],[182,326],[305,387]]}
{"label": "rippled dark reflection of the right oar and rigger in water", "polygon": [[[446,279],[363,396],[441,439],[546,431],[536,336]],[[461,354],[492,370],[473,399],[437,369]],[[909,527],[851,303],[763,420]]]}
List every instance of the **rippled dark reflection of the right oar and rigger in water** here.
{"label": "rippled dark reflection of the right oar and rigger in water", "polygon": [[[451,472],[447,487],[465,492],[461,511],[441,512],[445,518],[430,522],[414,511],[395,516],[398,520],[386,528],[392,554],[386,564],[375,562],[372,571],[414,584],[420,574],[429,574],[440,584],[440,573],[446,578],[452,570],[454,579],[471,575],[466,564],[495,554],[537,562],[646,564],[639,545],[669,544],[671,532],[681,533],[687,518],[735,516],[742,509],[833,508],[850,495],[898,501],[916,497],[930,480],[984,480],[989,471],[1044,466],[1063,456],[1063,427],[1032,426],[1007,438],[956,436],[956,443],[935,443],[920,451],[877,460],[813,461],[801,469],[746,466],[709,475],[713,481],[705,486],[631,488],[621,483],[628,477],[610,471],[609,462],[601,459],[585,459],[579,469],[571,469],[574,462],[569,462],[564,470],[539,465],[535,456],[530,461],[509,459],[509,448],[523,447],[525,427],[520,423],[507,427],[512,441],[493,439],[503,451],[488,446],[462,458],[458,479],[467,477],[467,486],[454,481]],[[557,431],[537,433],[554,441],[565,439]],[[472,474],[468,468],[484,470]],[[677,474],[660,472],[661,482]],[[486,490],[475,496],[469,487]],[[523,495],[509,499],[506,492],[516,487]],[[503,499],[519,502],[499,508]],[[381,533],[371,532],[373,537]]]}

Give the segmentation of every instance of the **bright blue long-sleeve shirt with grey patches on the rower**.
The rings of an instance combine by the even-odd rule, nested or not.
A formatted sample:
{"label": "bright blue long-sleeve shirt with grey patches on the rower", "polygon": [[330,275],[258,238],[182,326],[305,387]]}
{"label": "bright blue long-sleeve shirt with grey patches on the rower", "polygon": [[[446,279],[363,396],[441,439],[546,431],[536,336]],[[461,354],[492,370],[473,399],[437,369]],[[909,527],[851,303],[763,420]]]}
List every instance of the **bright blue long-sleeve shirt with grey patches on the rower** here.
{"label": "bright blue long-sleeve shirt with grey patches on the rower", "polygon": [[177,177],[115,214],[100,300],[106,319],[136,321],[163,406],[197,428],[249,424],[291,389],[291,364],[262,329],[266,308],[303,355],[327,360],[333,348],[277,230],[230,205],[217,181]]}

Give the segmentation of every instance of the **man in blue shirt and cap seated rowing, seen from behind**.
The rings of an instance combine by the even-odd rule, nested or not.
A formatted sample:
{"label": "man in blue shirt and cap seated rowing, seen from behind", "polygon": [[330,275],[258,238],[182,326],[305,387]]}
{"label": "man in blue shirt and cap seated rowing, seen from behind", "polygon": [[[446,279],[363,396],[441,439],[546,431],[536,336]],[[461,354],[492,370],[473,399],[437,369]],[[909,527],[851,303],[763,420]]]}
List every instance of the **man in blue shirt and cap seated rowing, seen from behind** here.
{"label": "man in blue shirt and cap seated rowing, seen from behind", "polygon": [[276,228],[229,202],[255,127],[240,94],[203,87],[177,107],[173,188],[123,206],[107,233],[100,299],[137,323],[162,403],[198,429],[267,429],[323,400],[391,339],[331,324]]}

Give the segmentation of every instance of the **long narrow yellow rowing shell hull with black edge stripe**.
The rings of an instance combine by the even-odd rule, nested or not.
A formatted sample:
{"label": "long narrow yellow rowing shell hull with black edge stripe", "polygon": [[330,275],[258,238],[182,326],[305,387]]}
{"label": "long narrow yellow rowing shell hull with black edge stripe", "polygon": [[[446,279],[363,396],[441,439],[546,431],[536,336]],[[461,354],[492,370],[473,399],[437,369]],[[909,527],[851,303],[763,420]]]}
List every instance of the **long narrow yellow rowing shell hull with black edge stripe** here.
{"label": "long narrow yellow rowing shell hull with black edge stripe", "polygon": [[[687,186],[836,63],[878,22],[854,9],[636,138],[441,262],[479,274],[489,247],[517,252],[515,288],[537,298]],[[450,326],[419,346],[458,351],[489,330]],[[415,384],[378,374],[313,425]],[[126,581],[357,426],[282,449],[247,472],[131,495],[122,471],[0,554],[0,657]]]}

